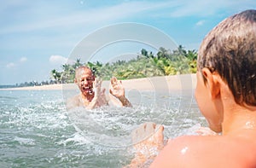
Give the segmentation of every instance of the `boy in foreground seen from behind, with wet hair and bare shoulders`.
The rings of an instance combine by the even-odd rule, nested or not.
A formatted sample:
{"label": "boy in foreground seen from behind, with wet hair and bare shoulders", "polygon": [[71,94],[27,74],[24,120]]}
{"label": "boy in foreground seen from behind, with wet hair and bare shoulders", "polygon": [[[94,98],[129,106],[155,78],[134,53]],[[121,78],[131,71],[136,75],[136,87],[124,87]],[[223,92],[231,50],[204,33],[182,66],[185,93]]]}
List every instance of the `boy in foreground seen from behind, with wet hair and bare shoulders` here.
{"label": "boy in foreground seen from behind, with wet hair and bare shoulders", "polygon": [[[163,147],[163,127],[134,147],[129,167],[256,167],[256,10],[223,20],[204,38],[197,61],[195,98],[209,127],[220,136],[180,136]],[[138,136],[138,135],[137,135]],[[160,154],[141,152],[154,148]],[[162,149],[163,148],[163,149]],[[154,156],[157,155],[155,158]]]}

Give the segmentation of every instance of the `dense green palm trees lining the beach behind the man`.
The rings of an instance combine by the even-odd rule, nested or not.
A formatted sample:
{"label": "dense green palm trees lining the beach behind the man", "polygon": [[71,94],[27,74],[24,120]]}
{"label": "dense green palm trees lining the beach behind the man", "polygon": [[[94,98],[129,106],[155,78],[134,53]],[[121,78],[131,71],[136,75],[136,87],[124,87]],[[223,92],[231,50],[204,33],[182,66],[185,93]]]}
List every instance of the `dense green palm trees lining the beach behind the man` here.
{"label": "dense green palm trees lining the beach behind the man", "polygon": [[102,64],[99,61],[83,63],[77,59],[73,65],[62,65],[62,71],[55,69],[51,76],[56,83],[73,83],[75,69],[85,65],[90,67],[97,77],[103,80],[115,76],[119,79],[146,78],[196,72],[197,53],[195,50],[185,50],[179,45],[176,50],[160,48],[156,55],[141,50],[137,58],[130,61],[116,61]]}

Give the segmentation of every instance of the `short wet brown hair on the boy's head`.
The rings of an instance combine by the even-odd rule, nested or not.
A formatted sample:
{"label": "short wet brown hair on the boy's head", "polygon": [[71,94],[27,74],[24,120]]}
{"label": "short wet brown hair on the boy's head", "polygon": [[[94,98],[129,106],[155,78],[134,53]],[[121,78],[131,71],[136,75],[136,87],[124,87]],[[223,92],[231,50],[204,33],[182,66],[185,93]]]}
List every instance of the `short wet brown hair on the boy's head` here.
{"label": "short wet brown hair on the boy's head", "polygon": [[236,103],[256,106],[256,10],[230,16],[201,43],[198,70],[218,72]]}

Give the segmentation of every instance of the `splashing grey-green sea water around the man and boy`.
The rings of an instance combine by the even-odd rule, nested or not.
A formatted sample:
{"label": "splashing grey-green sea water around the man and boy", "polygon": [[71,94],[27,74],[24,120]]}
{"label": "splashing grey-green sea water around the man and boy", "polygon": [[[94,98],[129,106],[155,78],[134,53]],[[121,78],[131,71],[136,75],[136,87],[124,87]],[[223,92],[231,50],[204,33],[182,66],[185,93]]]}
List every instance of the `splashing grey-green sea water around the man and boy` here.
{"label": "splashing grey-green sea water around the man and boy", "polygon": [[0,166],[123,167],[138,125],[164,125],[166,139],[205,125],[191,90],[127,96],[133,107],[67,111],[62,90],[0,90]]}

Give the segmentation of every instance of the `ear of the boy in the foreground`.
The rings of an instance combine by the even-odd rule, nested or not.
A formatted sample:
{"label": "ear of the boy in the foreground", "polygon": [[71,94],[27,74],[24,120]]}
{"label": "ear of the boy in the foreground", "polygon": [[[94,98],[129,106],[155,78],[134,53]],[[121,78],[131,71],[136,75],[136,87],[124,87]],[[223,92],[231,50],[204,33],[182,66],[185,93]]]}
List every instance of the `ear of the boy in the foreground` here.
{"label": "ear of the boy in the foreground", "polygon": [[202,68],[202,75],[207,80],[207,87],[209,88],[212,99],[218,98],[220,94],[220,85],[218,81],[218,73],[211,72],[207,67]]}

